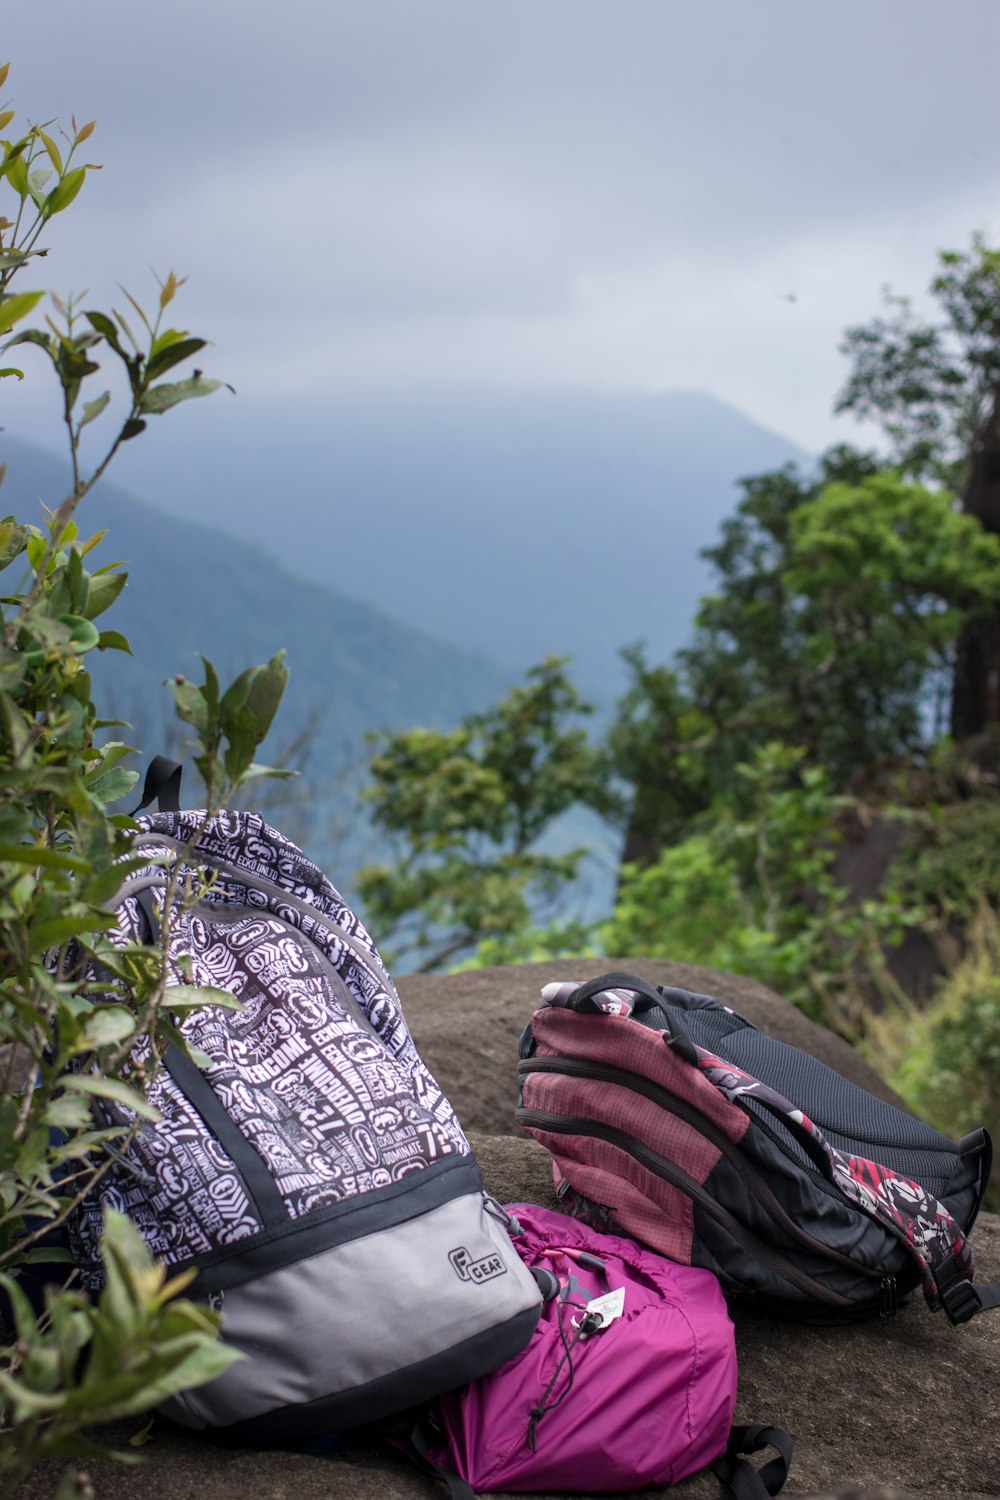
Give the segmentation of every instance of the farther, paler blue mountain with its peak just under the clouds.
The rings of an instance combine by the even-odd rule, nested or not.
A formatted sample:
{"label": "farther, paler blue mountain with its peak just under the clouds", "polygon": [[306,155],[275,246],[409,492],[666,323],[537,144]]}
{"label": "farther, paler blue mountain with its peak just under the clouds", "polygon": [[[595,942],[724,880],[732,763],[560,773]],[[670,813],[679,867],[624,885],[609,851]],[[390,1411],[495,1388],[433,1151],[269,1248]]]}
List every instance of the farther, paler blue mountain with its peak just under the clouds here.
{"label": "farther, paler blue mountain with its peak just under the clouds", "polygon": [[568,654],[603,706],[624,645],[664,660],[687,639],[736,480],[813,462],[691,392],[217,396],[183,420],[183,442],[151,423],[118,478],[517,674]]}

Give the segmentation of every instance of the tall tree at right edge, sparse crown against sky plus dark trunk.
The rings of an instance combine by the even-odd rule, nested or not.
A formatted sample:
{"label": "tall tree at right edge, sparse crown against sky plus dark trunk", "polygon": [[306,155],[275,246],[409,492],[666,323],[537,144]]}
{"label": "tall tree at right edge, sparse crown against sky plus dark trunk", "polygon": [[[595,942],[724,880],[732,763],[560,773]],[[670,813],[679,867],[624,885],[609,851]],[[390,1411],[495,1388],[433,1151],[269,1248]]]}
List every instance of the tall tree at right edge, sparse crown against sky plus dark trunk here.
{"label": "tall tree at right edge, sparse crown against sky plus dark trunk", "polygon": [[[849,328],[852,374],[838,411],[882,423],[894,459],[961,495],[966,514],[1000,536],[1000,250],[973,236],[945,250],[931,292],[937,322],[886,291],[888,315]],[[1000,723],[1000,608],[964,626],[955,651],[951,730]]]}

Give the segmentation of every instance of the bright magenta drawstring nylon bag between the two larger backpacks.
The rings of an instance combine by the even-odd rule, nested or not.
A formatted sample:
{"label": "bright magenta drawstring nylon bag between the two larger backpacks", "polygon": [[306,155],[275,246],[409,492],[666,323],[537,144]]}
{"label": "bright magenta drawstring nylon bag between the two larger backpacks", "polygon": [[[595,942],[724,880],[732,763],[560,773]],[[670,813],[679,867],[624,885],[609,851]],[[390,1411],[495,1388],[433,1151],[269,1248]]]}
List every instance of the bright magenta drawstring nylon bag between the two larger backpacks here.
{"label": "bright magenta drawstring nylon bag between the two larger backpacks", "polygon": [[[715,1276],[565,1214],[508,1212],[544,1308],[520,1354],[439,1396],[412,1438],[454,1500],[670,1485],[706,1464],[741,1496],[777,1494],[790,1442],[732,1428],[736,1347]],[[736,1458],[769,1444],[781,1458],[760,1473]]]}

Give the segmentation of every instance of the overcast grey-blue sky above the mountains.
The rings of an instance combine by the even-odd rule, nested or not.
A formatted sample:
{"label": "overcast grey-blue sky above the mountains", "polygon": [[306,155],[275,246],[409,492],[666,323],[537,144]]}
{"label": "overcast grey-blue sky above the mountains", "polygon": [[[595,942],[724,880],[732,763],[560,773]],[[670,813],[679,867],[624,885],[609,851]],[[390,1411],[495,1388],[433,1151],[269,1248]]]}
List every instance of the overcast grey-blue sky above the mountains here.
{"label": "overcast grey-blue sky above the mountains", "polygon": [[247,396],[690,388],[817,448],[844,326],[1000,238],[997,0],[33,0],[0,51],[103,164],[22,288],[175,267]]}

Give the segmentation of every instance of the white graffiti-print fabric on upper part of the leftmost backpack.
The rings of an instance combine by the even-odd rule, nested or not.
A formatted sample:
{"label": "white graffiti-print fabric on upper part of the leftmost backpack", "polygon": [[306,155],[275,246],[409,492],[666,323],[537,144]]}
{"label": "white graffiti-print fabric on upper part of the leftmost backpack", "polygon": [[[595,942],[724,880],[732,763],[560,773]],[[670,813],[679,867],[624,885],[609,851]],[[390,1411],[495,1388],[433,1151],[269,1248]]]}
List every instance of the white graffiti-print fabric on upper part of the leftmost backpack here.
{"label": "white graffiti-print fabric on upper part of the leftmost backpack", "polygon": [[[289,1218],[469,1154],[372,939],[301,850],[246,813],[207,822],[159,813],[139,822],[172,840],[201,830],[205,864],[219,861],[205,898],[174,909],[171,982],[210,984],[241,1002],[189,1012],[181,1030],[207,1054],[204,1077],[267,1164]],[[147,878],[163,879],[150,866],[132,885]],[[133,898],[121,916],[112,940],[139,938]],[[91,1287],[100,1278],[103,1204],[129,1214],[168,1263],[261,1230],[234,1161],[165,1071],[150,1100],[162,1119],[142,1125],[127,1166],[114,1168],[75,1218],[73,1250]],[[105,1114],[109,1124],[130,1122],[118,1106]]]}

